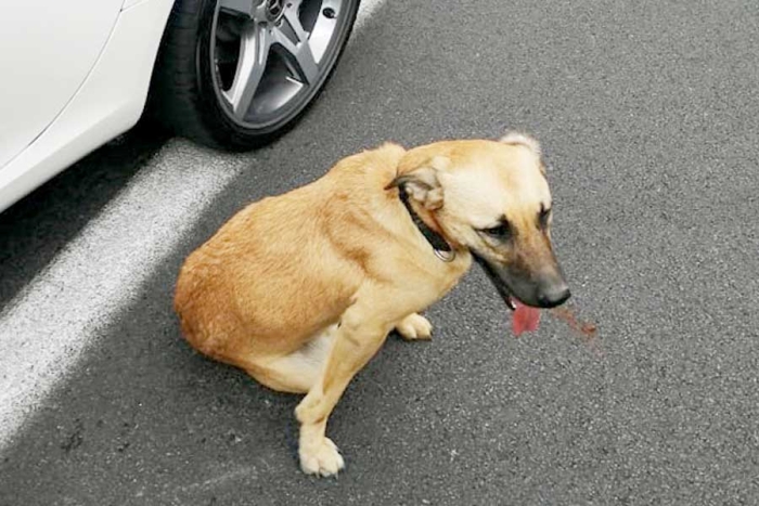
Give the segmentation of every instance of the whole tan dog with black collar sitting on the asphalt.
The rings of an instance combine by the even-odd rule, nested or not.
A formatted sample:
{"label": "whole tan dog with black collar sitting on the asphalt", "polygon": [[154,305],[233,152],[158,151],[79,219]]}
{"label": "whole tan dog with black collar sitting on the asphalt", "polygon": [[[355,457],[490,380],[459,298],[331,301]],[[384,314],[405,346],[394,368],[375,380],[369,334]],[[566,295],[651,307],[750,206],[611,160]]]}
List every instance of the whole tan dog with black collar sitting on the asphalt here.
{"label": "whole tan dog with black collar sitting on the asphalt", "polygon": [[188,341],[280,391],[295,414],[305,472],[344,467],[326,420],[394,328],[428,339],[419,314],[474,257],[501,296],[553,307],[569,289],[550,241],[538,143],[394,144],[235,215],[186,259],[175,309]]}

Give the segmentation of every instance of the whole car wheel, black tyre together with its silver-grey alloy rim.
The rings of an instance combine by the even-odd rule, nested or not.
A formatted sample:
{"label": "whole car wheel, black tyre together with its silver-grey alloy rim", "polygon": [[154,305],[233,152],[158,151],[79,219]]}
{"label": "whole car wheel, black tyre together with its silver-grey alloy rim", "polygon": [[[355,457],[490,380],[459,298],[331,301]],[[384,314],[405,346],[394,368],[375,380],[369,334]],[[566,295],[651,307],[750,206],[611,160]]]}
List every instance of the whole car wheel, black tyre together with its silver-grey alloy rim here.
{"label": "whole car wheel, black tyre together with its silver-grey alloy rim", "polygon": [[337,66],[360,0],[177,0],[156,60],[151,118],[246,151],[304,116]]}

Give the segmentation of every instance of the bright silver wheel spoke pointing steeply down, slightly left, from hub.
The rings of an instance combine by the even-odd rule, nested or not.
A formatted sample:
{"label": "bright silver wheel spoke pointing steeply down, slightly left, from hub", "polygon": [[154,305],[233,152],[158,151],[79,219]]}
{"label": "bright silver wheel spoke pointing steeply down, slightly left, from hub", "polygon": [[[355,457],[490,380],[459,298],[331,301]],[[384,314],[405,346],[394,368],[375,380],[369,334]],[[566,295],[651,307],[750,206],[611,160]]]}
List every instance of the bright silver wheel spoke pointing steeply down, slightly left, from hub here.
{"label": "bright silver wheel spoke pointing steeply down, slightly left, from hub", "polygon": [[240,60],[234,82],[224,94],[232,104],[234,115],[244,118],[266,70],[271,36],[266,27],[250,28],[243,34],[240,44]]}

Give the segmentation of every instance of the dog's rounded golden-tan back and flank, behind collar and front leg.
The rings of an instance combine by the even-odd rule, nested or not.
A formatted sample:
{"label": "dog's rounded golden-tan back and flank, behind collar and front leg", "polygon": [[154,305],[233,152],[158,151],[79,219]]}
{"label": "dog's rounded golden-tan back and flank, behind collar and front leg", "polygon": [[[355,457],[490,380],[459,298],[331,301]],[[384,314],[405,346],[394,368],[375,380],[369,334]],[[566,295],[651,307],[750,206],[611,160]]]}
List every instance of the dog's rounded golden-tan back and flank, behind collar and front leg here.
{"label": "dog's rounded golden-tan back and flank, behind collar and front leg", "polygon": [[336,323],[371,271],[382,239],[374,217],[403,155],[387,144],[337,164],[323,178],[249,205],[192,252],[175,309],[198,351],[249,368]]}

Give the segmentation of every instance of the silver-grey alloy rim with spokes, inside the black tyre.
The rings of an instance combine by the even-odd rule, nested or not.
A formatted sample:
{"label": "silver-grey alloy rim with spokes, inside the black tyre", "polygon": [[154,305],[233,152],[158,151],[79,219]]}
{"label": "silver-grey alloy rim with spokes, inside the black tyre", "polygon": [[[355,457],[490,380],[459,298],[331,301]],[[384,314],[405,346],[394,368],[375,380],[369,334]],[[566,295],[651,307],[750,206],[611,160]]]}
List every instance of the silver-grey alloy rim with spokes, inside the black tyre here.
{"label": "silver-grey alloy rim with spokes, inside the black tyre", "polygon": [[349,0],[219,0],[210,34],[214,89],[248,129],[288,120],[334,64]]}

